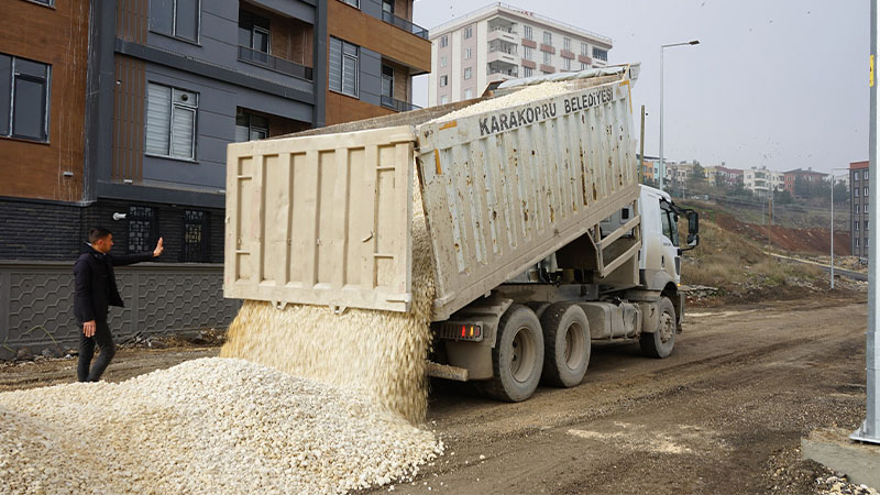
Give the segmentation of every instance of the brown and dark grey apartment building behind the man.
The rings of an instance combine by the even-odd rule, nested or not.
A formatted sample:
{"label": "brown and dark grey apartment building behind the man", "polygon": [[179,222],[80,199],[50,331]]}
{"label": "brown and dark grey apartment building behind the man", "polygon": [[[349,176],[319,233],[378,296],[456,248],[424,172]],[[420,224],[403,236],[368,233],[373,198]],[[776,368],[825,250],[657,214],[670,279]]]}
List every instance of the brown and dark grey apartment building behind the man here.
{"label": "brown and dark grey apartment building behind the man", "polygon": [[229,143],[407,110],[430,69],[413,0],[6,3],[0,260],[69,260],[102,224],[220,263]]}

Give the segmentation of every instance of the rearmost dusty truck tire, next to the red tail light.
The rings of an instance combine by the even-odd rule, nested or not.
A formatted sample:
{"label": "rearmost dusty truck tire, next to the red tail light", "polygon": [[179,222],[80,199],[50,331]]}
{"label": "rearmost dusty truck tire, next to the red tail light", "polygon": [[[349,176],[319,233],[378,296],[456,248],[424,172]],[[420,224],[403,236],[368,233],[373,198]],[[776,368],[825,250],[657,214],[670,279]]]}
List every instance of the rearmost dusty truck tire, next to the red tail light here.
{"label": "rearmost dusty truck tire, next to the red tail light", "polygon": [[492,380],[483,392],[498,400],[519,403],[531,397],[541,380],[543,334],[535,311],[513,305],[498,322],[492,349]]}

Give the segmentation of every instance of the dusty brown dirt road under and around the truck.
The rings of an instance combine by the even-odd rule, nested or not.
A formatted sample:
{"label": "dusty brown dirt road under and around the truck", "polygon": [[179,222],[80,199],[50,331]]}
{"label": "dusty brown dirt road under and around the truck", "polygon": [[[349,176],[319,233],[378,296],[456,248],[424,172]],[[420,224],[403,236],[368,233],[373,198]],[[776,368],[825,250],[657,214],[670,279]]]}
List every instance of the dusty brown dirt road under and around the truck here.
{"label": "dusty brown dirt road under and around the truck", "polygon": [[[394,492],[818,493],[831,472],[798,448],[814,427],[864,419],[860,299],[695,309],[669,359],[595,345],[581,386],[541,387],[521,404],[437,382],[428,419],[447,453]],[[123,350],[106,377],[216,353]],[[74,365],[0,367],[0,391],[69,382]]]}

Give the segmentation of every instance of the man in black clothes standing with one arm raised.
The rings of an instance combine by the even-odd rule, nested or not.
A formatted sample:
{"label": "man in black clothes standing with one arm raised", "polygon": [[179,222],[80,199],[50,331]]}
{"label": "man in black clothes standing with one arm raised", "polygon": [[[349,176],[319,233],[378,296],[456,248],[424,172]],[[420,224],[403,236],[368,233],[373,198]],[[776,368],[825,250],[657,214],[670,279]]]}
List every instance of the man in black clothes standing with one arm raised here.
{"label": "man in black clothes standing with one arm raised", "polygon": [[[113,234],[109,230],[96,227],[89,230],[88,250],[79,255],[74,264],[74,279],[76,294],[74,296],[74,315],[82,323],[82,333],[79,334],[79,363],[76,369],[80,382],[97,382],[110,360],[116,354],[113,336],[107,324],[107,314],[110,306],[122,307],[122,297],[117,288],[113,266],[131,265],[156,257],[165,250],[162,238],[158,239],[153,252],[110,255],[113,246]],[[95,344],[101,354],[91,366],[95,355]]]}

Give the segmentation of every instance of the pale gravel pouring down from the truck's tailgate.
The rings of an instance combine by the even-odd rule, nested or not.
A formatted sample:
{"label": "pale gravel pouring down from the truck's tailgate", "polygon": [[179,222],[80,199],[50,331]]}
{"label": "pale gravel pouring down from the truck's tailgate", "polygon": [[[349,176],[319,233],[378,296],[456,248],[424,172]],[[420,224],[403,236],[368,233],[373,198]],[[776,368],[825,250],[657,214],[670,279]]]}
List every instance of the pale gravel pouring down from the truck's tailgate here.
{"label": "pale gravel pouring down from the truck's tailgate", "polygon": [[[418,178],[416,178],[416,182]],[[413,424],[428,408],[427,355],[435,295],[432,249],[418,184],[413,206],[410,312],[246,300],[229,328],[221,356],[242,358],[292,375],[375,397]]]}

